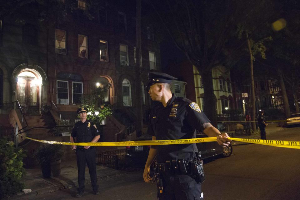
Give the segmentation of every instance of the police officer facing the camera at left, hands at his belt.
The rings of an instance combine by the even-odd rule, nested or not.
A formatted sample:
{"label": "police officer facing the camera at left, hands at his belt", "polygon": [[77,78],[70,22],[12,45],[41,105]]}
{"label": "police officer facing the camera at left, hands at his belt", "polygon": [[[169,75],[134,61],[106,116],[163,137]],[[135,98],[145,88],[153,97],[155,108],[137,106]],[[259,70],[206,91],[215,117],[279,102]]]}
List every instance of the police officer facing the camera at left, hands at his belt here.
{"label": "police officer facing the camera at left, hands at his belt", "polygon": [[[80,121],[75,123],[70,141],[71,143],[95,143],[99,140],[100,135],[96,125],[87,120],[87,108],[78,108],[77,113],[80,116]],[[93,193],[100,194],[97,185],[96,174],[96,148],[91,146],[72,146],[72,149],[76,151],[77,167],[78,167],[78,193],[76,197],[81,197],[84,192],[85,181],[85,166],[88,164],[88,170],[91,177]]]}

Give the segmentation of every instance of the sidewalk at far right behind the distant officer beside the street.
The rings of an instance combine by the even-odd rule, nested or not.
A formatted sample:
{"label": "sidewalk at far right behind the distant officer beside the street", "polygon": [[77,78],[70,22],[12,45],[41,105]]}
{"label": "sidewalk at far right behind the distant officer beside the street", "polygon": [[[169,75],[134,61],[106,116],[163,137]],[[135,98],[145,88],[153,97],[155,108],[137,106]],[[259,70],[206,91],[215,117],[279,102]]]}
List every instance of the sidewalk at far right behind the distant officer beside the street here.
{"label": "sidewalk at far right behind the distant officer beside the street", "polygon": [[[279,127],[278,123],[268,123],[268,126],[266,127],[266,137],[268,138],[268,135],[277,131],[281,131],[283,129],[283,127]],[[258,134],[257,135],[234,135],[232,138],[245,138],[245,139],[260,139],[260,131],[258,130]],[[243,142],[238,142],[238,141],[232,141],[231,143],[233,146],[234,145],[241,145],[241,144],[248,144],[248,143],[243,143]]]}

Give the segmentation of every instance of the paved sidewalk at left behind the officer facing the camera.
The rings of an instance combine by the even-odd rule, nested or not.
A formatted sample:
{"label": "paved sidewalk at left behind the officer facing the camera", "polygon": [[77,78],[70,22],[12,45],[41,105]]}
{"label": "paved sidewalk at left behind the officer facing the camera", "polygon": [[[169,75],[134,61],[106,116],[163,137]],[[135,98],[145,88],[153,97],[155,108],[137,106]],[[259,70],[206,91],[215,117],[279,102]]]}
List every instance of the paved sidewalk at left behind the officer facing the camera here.
{"label": "paved sidewalk at left behind the officer facing the camera", "polygon": [[[103,166],[96,166],[97,179],[105,179],[108,177],[118,176],[122,173],[119,170],[107,168]],[[24,194],[23,192],[18,193],[15,196],[9,197],[8,199],[30,199],[38,194],[54,192],[56,190],[62,190],[64,188],[76,188],[78,187],[78,171],[76,158],[75,160],[66,160],[61,163],[61,174],[57,177],[43,178],[42,171],[40,168],[25,169],[26,176],[22,178],[22,183],[25,184],[26,189],[31,189],[32,192]],[[88,167],[86,166],[85,172],[85,183],[86,190],[92,190],[90,185],[90,175],[88,173]],[[74,190],[76,190],[74,189]]]}

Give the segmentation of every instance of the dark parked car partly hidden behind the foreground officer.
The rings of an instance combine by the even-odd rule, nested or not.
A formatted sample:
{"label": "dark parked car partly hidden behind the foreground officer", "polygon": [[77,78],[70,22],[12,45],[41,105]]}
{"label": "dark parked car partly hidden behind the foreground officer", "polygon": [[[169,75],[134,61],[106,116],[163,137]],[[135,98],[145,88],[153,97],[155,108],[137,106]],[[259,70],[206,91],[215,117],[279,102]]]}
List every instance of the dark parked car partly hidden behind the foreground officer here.
{"label": "dark parked car partly hidden behind the foreground officer", "polygon": [[[206,134],[197,134],[197,138],[207,138]],[[152,140],[152,136],[143,135],[136,140]],[[211,158],[217,155],[222,157],[229,157],[232,154],[232,145],[228,147],[221,147],[217,142],[208,142],[208,143],[197,143],[197,148],[201,151],[202,159]],[[125,162],[128,165],[145,165],[150,146],[127,146],[127,154],[125,155]]]}

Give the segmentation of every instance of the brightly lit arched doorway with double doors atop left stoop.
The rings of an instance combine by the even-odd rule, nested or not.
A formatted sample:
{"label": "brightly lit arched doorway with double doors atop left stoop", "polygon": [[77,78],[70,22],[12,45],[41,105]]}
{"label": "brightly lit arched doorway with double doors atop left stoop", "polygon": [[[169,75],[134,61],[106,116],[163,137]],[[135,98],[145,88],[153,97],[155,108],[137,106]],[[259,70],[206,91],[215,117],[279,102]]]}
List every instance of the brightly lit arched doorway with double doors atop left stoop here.
{"label": "brightly lit arched doorway with double doors atop left stoop", "polygon": [[25,113],[39,113],[42,77],[35,70],[23,69],[17,76],[17,100]]}

